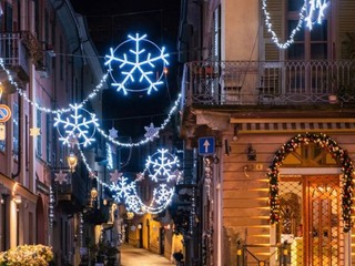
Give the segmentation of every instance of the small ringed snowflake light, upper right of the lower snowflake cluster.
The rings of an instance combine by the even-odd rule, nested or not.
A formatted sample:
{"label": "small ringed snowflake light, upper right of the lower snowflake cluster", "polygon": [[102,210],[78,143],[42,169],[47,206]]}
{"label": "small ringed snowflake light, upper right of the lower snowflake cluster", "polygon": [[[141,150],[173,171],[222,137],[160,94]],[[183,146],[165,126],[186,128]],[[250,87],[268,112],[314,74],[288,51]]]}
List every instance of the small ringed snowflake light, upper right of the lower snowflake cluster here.
{"label": "small ringed snowflake light, upper right of the lower snowflake cluster", "polygon": [[179,167],[179,158],[169,153],[168,150],[161,149],[148,157],[145,167],[152,181],[170,182],[176,177],[175,170]]}

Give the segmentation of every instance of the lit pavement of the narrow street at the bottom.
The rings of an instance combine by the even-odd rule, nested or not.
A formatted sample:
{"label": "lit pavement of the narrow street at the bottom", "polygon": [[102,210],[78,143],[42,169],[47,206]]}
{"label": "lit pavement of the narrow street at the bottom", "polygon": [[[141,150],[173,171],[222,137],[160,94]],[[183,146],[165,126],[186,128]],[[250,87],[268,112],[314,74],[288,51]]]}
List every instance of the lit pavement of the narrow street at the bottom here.
{"label": "lit pavement of the narrow street at the bottom", "polygon": [[121,266],[164,266],[174,265],[162,255],[153,254],[144,248],[129,245],[121,246]]}

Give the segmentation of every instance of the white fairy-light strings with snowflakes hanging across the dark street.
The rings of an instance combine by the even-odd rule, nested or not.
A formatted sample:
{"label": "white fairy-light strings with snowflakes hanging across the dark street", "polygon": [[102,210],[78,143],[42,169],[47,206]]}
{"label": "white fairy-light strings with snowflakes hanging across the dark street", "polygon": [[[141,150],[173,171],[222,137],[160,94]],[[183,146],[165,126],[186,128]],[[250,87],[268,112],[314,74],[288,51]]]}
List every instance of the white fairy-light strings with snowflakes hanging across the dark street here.
{"label": "white fairy-light strings with snowflakes hanging across the dark street", "polygon": [[[126,45],[131,42],[133,42],[134,44],[133,49],[128,50],[130,53],[132,53],[131,57],[126,55],[125,53],[123,53],[122,57],[118,57],[115,54],[119,48],[121,48],[123,44]],[[149,52],[144,55],[145,49],[141,48],[141,44],[143,42],[153,45],[154,49],[159,50],[159,53],[152,55]],[[140,198],[136,192],[136,182],[142,180],[142,176],[144,176],[144,172],[146,170],[144,170],[143,173],[139,175],[140,178],[136,178],[133,182],[130,182],[128,177],[123,176],[121,173],[114,170],[113,173],[111,173],[111,184],[108,184],[95,174],[95,172],[89,165],[87,156],[84,155],[81,149],[81,145],[83,147],[87,147],[95,141],[95,132],[99,132],[108,142],[110,142],[110,144],[124,147],[142,146],[159,137],[160,131],[164,130],[168,126],[172,119],[172,115],[178,110],[178,104],[181,100],[181,94],[179,94],[176,101],[174,102],[173,106],[168,113],[168,117],[163,121],[161,126],[154,127],[153,123],[151,123],[150,126],[145,126],[146,133],[144,135],[144,139],[135,143],[123,143],[116,141],[115,129],[111,130],[113,134],[111,134],[110,131],[110,135],[108,135],[105,134],[104,130],[102,130],[99,126],[99,120],[97,119],[95,114],[90,113],[83,106],[90,100],[94,99],[98,95],[98,93],[102,90],[103,84],[106,82],[109,75],[114,81],[113,83],[111,83],[111,85],[116,86],[118,92],[123,92],[123,94],[126,94],[128,92],[134,92],[134,89],[130,88],[130,85],[132,85],[132,83],[135,82],[133,76],[136,75],[136,72],[139,75],[139,80],[138,83],[133,85],[133,88],[142,85],[142,88],[136,90],[138,92],[146,91],[148,94],[151,94],[153,91],[158,91],[159,85],[164,84],[164,82],[162,82],[161,79],[166,74],[165,65],[168,64],[166,58],[169,57],[169,54],[165,53],[164,48],[160,49],[156,44],[146,40],[146,34],[135,34],[135,37],[129,35],[129,40],[123,42],[123,44],[120,44],[114,50],[110,50],[111,54],[106,57],[108,61],[105,63],[105,65],[109,65],[109,70],[99,81],[98,85],[93,89],[93,91],[80,103],[69,104],[69,108],[64,109],[52,110],[45,106],[41,106],[38,102],[31,100],[27,95],[27,93],[24,93],[23,90],[19,88],[10,71],[6,68],[2,59],[0,59],[0,65],[2,70],[6,71],[8,80],[16,88],[19,95],[21,95],[30,105],[32,105],[41,112],[57,114],[57,117],[54,117],[54,126],[57,127],[60,135],[59,141],[61,141],[63,145],[71,146],[72,149],[78,149],[81,161],[89,171],[91,178],[95,178],[99,185],[101,185],[102,187],[106,187],[113,193],[115,193],[113,195],[114,200],[118,202],[123,201],[128,211],[132,211],[136,214],[144,214],[148,212],[152,214],[158,214],[166,208],[166,206],[170,204],[173,197],[175,181],[181,175],[179,170],[174,167],[174,165],[179,165],[178,157],[170,154],[168,150],[161,150],[160,156],[158,156],[156,160],[151,161],[150,157],[148,158],[146,170],[150,167],[150,164],[154,165],[154,167],[158,166],[158,170],[155,170],[154,174],[149,174],[148,176],[152,177],[152,182],[159,184],[158,187],[153,190],[153,198],[151,203],[146,205],[143,203],[143,201]],[[132,55],[134,60],[132,60]],[[145,57],[145,59],[141,60],[142,57]],[[160,65],[156,65],[158,61],[162,61],[162,63]],[[146,65],[151,69],[160,66],[162,69],[161,75],[156,80],[154,80],[154,72],[152,70],[146,70]],[[118,72],[120,74],[119,78],[114,78],[114,72]],[[120,80],[120,76],[123,76],[123,79]],[[108,151],[110,149],[108,149]],[[110,167],[112,167],[112,153],[108,153],[108,160],[110,160],[111,162]],[[171,173],[173,167],[175,168],[175,171]],[[113,170],[113,167],[111,170]],[[158,175],[160,176],[160,178],[156,177]],[[164,175],[166,175],[166,180],[163,177]],[[54,181],[59,182],[60,184],[63,182],[68,182],[67,174],[62,171],[55,173]]]}

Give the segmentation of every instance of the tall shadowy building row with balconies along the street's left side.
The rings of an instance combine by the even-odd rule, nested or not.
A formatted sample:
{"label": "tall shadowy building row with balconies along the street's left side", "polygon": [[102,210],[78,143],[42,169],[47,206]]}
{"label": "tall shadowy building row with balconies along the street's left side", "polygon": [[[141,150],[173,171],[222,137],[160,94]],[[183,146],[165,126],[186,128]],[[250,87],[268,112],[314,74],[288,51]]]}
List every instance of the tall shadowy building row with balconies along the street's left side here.
{"label": "tall shadowy building row with balconies along the street's left side", "polygon": [[[52,111],[85,99],[102,66],[70,1],[1,1],[0,9],[1,104],[11,112],[1,121],[0,249],[44,244],[55,265],[79,265],[92,184],[82,163],[69,171],[67,157],[79,153],[59,141]],[[85,108],[100,115],[95,100]],[[65,182],[55,180],[59,171]]]}

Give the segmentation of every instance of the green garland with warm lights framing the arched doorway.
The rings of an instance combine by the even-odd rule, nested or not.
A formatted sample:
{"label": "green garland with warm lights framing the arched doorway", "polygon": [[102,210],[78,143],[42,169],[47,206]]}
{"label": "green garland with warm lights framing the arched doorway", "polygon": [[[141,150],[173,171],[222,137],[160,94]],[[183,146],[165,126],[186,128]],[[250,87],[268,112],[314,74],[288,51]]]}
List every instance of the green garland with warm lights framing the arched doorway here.
{"label": "green garland with warm lights framing the arched doorway", "polygon": [[347,151],[343,150],[337,143],[326,134],[297,134],[287,143],[285,143],[276,153],[272,165],[270,166],[268,192],[270,192],[270,222],[272,224],[280,221],[280,198],[278,198],[278,168],[283,164],[285,156],[295,151],[301,144],[314,143],[326,149],[333,157],[339,158],[343,172],[343,190],[342,190],[342,209],[344,219],[344,232],[348,232],[352,227],[352,196],[353,196],[353,174],[354,166]]}

